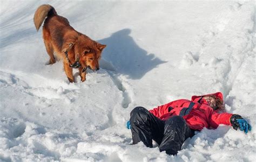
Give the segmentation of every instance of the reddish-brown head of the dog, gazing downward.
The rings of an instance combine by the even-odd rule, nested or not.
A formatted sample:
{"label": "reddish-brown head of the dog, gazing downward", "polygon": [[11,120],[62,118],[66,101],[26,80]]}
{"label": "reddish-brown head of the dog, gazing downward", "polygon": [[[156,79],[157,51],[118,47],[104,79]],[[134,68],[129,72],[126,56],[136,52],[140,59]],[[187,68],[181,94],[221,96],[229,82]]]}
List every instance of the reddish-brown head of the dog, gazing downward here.
{"label": "reddish-brown head of the dog, gazing downward", "polygon": [[75,53],[79,55],[79,62],[82,67],[88,67],[92,71],[98,71],[99,59],[101,58],[102,51],[105,47],[106,45],[99,44],[84,34],[81,34],[78,37],[74,49]]}

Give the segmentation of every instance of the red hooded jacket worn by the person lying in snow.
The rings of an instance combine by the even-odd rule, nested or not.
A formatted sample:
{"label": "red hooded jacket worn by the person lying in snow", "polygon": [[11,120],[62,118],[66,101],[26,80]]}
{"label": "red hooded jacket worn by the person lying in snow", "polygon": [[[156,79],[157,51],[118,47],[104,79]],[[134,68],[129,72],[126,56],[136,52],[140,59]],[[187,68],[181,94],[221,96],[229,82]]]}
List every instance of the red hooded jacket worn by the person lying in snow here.
{"label": "red hooded jacket worn by the person lying in snow", "polygon": [[[223,100],[223,95],[220,92],[212,95]],[[208,105],[204,98],[202,98],[203,96],[192,96],[191,100],[181,99],[172,101],[160,105],[150,110],[150,112],[164,121],[175,115],[183,116],[187,125],[194,130],[202,130],[204,127],[216,129],[219,124],[231,125],[230,117],[233,114],[227,112],[219,114]]]}

